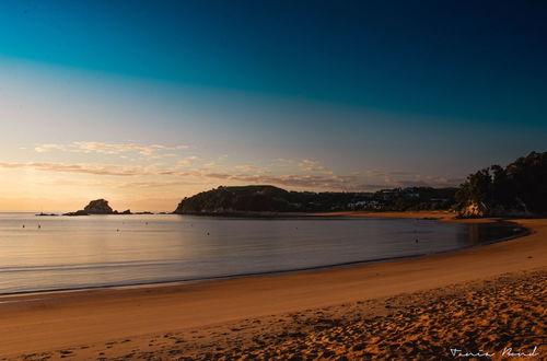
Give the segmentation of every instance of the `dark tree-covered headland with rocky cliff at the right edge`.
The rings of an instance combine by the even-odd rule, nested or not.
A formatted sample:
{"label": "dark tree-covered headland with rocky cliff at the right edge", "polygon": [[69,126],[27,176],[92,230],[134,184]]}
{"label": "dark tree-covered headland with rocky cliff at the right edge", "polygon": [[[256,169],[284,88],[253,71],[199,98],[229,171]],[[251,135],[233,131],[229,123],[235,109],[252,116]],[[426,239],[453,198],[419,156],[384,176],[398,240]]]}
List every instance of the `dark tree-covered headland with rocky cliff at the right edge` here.
{"label": "dark tree-covered headland with rocky cliff at the right edge", "polygon": [[463,217],[542,214],[547,212],[547,152],[532,152],[505,168],[480,170],[456,194]]}

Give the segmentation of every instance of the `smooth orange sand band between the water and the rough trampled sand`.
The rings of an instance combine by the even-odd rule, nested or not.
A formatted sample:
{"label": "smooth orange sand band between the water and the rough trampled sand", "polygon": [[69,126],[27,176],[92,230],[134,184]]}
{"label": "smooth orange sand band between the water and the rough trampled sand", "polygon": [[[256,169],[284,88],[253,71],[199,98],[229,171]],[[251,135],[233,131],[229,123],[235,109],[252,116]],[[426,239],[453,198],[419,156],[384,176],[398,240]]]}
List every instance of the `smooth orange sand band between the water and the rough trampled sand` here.
{"label": "smooth orange sand band between the water and the rough trampled sand", "polygon": [[[404,216],[420,218],[424,213]],[[472,223],[484,221],[472,220]],[[144,335],[184,331],[252,317],[261,319],[268,315],[443,288],[507,272],[545,269],[547,220],[514,221],[531,233],[511,241],[412,259],[178,286],[0,296],[0,301],[26,301],[0,303],[3,326],[0,357],[88,347],[124,338],[141,339]],[[144,350],[148,345],[137,348]],[[89,358],[96,359],[97,354]]]}

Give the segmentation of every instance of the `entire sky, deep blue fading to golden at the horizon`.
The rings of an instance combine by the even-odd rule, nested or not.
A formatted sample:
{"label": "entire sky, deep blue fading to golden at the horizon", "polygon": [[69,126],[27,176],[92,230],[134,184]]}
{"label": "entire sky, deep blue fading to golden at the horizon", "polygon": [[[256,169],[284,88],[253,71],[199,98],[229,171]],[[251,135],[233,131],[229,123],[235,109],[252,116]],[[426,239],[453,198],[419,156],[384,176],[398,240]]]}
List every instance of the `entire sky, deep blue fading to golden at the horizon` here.
{"label": "entire sky, deep blue fading to golden at the horizon", "polygon": [[0,0],[0,211],[461,184],[547,145],[543,1]]}

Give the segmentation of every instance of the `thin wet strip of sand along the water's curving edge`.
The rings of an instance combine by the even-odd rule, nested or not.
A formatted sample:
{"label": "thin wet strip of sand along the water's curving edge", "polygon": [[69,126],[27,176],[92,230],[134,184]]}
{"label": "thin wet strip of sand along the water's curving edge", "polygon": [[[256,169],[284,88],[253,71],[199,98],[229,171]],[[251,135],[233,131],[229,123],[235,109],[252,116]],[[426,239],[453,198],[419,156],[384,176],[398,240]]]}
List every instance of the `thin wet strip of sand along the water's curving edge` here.
{"label": "thin wet strip of sand along the water's curving edge", "polygon": [[[384,216],[381,216],[384,214]],[[414,217],[416,214],[420,214],[422,217]],[[442,214],[444,217],[438,217]],[[420,211],[420,212],[362,212],[362,211],[348,211],[348,212],[334,212],[334,213],[291,213],[288,217],[256,217],[255,219],[354,219],[354,218],[371,218],[371,219],[409,219],[416,218],[417,220],[429,220],[437,221],[441,223],[463,223],[463,224],[476,224],[476,223],[497,223],[497,222],[505,222],[512,223],[515,226],[520,228],[521,231],[519,233],[512,234],[507,237],[502,237],[499,240],[492,240],[488,242],[482,242],[480,244],[468,245],[459,248],[447,249],[447,251],[439,251],[433,253],[422,253],[416,255],[407,255],[407,256],[397,256],[397,257],[383,257],[376,259],[366,259],[366,260],[352,260],[339,264],[330,264],[330,265],[319,265],[312,267],[302,267],[294,269],[283,269],[283,270],[272,270],[272,271],[261,271],[261,272],[251,272],[251,273],[237,273],[237,275],[226,275],[226,276],[214,276],[214,277],[205,277],[205,278],[196,278],[196,279],[179,279],[179,280],[165,280],[165,281],[155,281],[155,282],[142,282],[142,283],[120,283],[120,284],[112,284],[112,286],[91,286],[91,287],[77,287],[77,288],[63,288],[63,289],[50,289],[50,290],[33,290],[33,291],[19,291],[19,292],[0,292],[0,304],[2,303],[2,298],[10,296],[32,296],[32,295],[40,295],[40,294],[56,294],[62,292],[84,292],[84,291],[94,291],[94,290],[123,290],[123,289],[147,289],[147,288],[159,288],[159,287],[176,287],[184,284],[193,284],[200,282],[212,282],[212,281],[221,281],[221,280],[231,280],[231,279],[245,279],[245,278],[254,278],[254,277],[269,277],[269,276],[283,276],[283,275],[293,275],[301,272],[313,272],[317,270],[329,270],[345,267],[359,267],[365,266],[370,264],[377,263],[391,263],[403,259],[418,259],[422,257],[429,257],[439,254],[445,254],[451,252],[456,252],[461,249],[468,249],[475,247],[482,247],[490,244],[496,244],[500,242],[507,242],[514,238],[523,237],[529,235],[532,231],[522,224],[514,222],[511,219],[498,219],[498,218],[484,218],[484,219],[455,219],[447,216],[453,216],[454,213],[445,212],[445,211]],[[193,216],[193,214],[178,214],[178,216]],[[200,214],[201,217],[209,217],[207,214]],[[437,216],[437,217],[435,217]],[[221,218],[230,218],[230,216],[224,214],[220,216]],[[240,216],[235,218],[244,218],[245,216]],[[15,301],[12,301],[15,302]]]}

